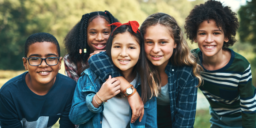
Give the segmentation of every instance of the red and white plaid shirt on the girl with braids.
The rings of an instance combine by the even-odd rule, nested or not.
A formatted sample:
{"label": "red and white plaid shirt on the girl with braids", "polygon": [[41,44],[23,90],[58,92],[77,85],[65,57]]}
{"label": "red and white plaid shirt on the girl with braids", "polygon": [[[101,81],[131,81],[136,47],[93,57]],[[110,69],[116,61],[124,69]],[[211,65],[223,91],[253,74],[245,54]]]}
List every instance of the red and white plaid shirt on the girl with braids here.
{"label": "red and white plaid shirt on the girl with braids", "polygon": [[[77,69],[76,63],[69,60],[69,55],[68,54],[66,54],[64,56],[63,61],[64,61],[64,65],[65,65],[65,74],[69,78],[71,78],[71,79],[73,79],[77,82],[78,79],[79,79],[79,76],[78,76],[78,69]],[[86,64],[82,63],[82,68],[84,68],[84,67],[86,67]]]}

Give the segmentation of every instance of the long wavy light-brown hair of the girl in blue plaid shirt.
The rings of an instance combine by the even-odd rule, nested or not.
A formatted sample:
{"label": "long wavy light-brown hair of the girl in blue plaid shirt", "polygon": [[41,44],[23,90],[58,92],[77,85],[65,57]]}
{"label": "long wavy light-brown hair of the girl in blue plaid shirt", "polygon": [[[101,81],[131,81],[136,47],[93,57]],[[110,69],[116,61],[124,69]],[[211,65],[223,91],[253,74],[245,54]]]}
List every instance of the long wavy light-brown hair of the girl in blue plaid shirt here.
{"label": "long wavy light-brown hair of the girl in blue plaid shirt", "polygon": [[165,26],[170,33],[170,36],[174,39],[177,44],[177,48],[173,50],[173,54],[170,57],[170,62],[175,66],[192,66],[193,75],[198,79],[198,86],[203,83],[202,76],[200,72],[203,68],[197,64],[197,57],[194,56],[184,38],[184,33],[178,25],[177,21],[170,15],[165,13],[155,13],[147,17],[147,19],[142,23],[140,29],[142,33],[146,33],[146,30],[150,26],[162,25]]}

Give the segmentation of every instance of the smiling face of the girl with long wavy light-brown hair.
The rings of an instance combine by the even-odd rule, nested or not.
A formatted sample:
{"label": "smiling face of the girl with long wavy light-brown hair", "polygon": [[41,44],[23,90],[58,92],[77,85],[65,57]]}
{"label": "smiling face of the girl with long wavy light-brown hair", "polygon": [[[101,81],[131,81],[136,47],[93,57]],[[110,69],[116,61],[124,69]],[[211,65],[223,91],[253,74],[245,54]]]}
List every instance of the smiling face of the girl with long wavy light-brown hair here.
{"label": "smiling face of the girl with long wavy light-brown hair", "polygon": [[148,27],[144,43],[147,59],[155,66],[166,67],[176,46],[167,28],[159,24]]}

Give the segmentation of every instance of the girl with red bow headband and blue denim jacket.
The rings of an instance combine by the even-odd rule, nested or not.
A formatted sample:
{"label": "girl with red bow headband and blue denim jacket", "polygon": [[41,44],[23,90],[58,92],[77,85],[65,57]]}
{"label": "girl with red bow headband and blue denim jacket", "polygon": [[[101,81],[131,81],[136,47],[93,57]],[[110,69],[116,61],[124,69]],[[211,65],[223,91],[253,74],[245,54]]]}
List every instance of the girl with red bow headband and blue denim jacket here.
{"label": "girl with red bow headband and blue denim jacket", "polygon": [[[115,67],[130,85],[121,92],[120,81],[109,75],[101,86],[102,80],[96,72],[87,68],[78,80],[69,118],[72,123],[80,124],[79,128],[156,128],[156,96],[160,83],[153,81],[158,75],[151,73],[156,72],[155,69],[149,68],[139,24],[129,21],[111,25],[117,27],[110,35],[104,53],[110,56],[112,68]],[[145,99],[144,116],[133,121],[128,97],[136,93]]]}

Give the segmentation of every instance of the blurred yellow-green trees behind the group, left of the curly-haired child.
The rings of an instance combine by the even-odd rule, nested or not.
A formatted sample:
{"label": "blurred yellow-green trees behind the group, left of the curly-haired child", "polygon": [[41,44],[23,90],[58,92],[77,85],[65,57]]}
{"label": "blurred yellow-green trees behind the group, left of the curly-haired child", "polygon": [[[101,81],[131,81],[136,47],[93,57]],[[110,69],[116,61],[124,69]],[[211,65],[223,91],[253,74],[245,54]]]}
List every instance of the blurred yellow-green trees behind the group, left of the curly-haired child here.
{"label": "blurred yellow-green trees behind the group, left of the curly-haired child", "polygon": [[156,12],[172,15],[181,26],[195,4],[203,0],[0,0],[0,69],[24,69],[24,44],[29,35],[54,35],[65,55],[63,38],[83,14],[110,11],[121,23],[141,23]]}

